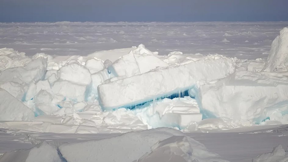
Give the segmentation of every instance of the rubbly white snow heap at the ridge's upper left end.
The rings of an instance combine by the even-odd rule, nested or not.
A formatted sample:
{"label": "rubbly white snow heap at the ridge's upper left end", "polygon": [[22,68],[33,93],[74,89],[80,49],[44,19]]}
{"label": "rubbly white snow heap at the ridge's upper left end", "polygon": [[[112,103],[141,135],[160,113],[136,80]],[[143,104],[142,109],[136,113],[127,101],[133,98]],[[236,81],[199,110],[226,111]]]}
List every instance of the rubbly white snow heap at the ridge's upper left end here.
{"label": "rubbly white snow heap at the ridge's upper left end", "polygon": [[24,52],[17,52],[14,49],[0,49],[0,72],[11,67],[24,67],[31,61]]}

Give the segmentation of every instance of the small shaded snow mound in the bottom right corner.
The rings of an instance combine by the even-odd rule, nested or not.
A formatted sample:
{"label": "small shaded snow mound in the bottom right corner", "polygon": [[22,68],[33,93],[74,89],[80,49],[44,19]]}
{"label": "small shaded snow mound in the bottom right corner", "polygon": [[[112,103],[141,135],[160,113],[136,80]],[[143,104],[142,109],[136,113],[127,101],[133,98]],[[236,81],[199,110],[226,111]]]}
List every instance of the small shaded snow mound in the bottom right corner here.
{"label": "small shaded snow mound in the bottom right corner", "polygon": [[274,147],[271,153],[258,155],[252,162],[287,162],[288,152],[283,149],[282,145]]}

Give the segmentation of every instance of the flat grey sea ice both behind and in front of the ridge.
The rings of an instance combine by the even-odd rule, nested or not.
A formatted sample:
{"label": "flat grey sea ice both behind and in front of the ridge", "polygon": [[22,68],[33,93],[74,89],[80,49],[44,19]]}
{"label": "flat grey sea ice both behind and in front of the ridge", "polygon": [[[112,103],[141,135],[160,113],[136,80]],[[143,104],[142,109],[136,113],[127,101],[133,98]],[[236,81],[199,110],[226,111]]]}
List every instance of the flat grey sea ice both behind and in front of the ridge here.
{"label": "flat grey sea ice both behind and in front of the ridge", "polygon": [[[272,41],[287,26],[288,22],[0,23],[0,49],[12,48],[25,52],[26,56],[37,53],[86,56],[95,51],[144,44],[147,49],[159,52],[159,55],[180,51],[185,54],[266,59]],[[0,128],[0,154],[15,149],[29,149],[33,141],[58,145],[118,135],[121,134],[57,134]],[[288,125],[186,135],[232,162],[251,162],[252,158],[271,152],[278,144],[282,144],[284,149],[288,146]]]}

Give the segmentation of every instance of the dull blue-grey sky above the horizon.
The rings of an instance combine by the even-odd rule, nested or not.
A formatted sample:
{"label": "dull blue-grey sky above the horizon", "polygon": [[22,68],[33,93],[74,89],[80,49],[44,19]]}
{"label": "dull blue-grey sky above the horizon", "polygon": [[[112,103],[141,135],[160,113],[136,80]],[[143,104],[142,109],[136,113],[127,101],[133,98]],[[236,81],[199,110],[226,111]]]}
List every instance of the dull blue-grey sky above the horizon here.
{"label": "dull blue-grey sky above the horizon", "polygon": [[0,0],[0,22],[288,21],[288,0]]}

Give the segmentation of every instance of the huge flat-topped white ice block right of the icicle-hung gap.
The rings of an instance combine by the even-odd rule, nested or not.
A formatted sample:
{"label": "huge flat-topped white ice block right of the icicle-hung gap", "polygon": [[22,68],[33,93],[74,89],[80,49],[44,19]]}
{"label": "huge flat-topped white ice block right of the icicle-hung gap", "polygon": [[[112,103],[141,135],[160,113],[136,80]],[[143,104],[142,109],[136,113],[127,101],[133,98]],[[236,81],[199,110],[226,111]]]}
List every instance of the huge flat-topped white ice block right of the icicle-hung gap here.
{"label": "huge flat-topped white ice block right of the icicle-hung gap", "polygon": [[237,122],[259,123],[266,118],[280,121],[288,113],[287,75],[238,71],[216,83],[201,86],[198,100],[203,109],[216,117]]}

